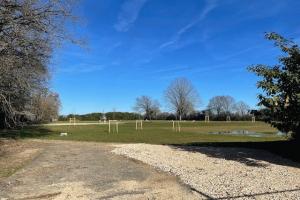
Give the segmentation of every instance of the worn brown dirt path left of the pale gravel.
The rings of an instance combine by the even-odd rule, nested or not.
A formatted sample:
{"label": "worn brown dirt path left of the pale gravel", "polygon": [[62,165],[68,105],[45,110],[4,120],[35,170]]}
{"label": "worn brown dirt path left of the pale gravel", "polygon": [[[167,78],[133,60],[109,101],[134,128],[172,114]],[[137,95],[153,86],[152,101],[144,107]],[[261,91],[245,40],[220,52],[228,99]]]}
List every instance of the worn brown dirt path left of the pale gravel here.
{"label": "worn brown dirt path left of the pale gravel", "polygon": [[175,177],[111,153],[100,143],[27,141],[39,151],[0,179],[0,199],[198,199]]}

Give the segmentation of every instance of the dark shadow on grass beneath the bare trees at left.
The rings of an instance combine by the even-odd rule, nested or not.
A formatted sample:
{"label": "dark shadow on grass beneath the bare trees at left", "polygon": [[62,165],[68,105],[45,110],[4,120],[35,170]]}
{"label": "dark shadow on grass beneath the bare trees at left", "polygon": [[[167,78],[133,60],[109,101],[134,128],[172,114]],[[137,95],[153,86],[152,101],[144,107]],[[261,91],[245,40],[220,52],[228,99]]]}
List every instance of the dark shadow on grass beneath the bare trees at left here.
{"label": "dark shadow on grass beneath the bare trees at left", "polygon": [[20,129],[0,130],[0,138],[7,139],[25,139],[25,138],[41,138],[46,137],[54,132],[45,127],[27,126]]}

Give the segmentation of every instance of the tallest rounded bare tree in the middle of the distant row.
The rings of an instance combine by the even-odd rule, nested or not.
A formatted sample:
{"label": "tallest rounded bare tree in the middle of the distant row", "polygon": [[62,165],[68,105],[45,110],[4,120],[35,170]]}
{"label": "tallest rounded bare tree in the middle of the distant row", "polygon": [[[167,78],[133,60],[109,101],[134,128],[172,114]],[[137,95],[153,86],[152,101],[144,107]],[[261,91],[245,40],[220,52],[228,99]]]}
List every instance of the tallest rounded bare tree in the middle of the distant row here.
{"label": "tallest rounded bare tree in the middle of the distant row", "polygon": [[165,91],[166,101],[179,120],[194,111],[199,103],[199,95],[192,83],[186,78],[177,78]]}

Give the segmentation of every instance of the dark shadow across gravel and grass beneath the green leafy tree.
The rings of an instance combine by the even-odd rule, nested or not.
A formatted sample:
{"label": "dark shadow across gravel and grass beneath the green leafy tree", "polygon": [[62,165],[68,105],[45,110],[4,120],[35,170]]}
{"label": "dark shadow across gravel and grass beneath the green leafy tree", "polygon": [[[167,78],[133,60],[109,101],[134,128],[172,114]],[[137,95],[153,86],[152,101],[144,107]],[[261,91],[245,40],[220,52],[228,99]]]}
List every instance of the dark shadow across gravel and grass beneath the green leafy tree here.
{"label": "dark shadow across gravel and grass beneath the green leafy tree", "polygon": [[[209,157],[237,161],[247,166],[266,167],[268,164],[260,162],[266,161],[273,164],[300,168],[299,143],[294,141],[188,143],[184,145],[174,144],[172,146],[185,151],[203,153]],[[286,159],[274,157],[270,153]]]}

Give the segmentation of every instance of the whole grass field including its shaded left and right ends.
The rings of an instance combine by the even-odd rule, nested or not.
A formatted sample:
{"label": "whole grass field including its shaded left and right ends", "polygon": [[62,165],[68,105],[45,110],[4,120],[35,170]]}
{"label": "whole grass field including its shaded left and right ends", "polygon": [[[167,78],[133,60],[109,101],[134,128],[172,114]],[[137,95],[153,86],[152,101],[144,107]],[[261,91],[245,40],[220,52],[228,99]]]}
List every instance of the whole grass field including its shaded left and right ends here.
{"label": "whole grass field including its shaded left and right ends", "polygon": [[[85,123],[85,122],[82,122]],[[93,122],[91,122],[93,123]],[[94,122],[95,123],[95,122]],[[242,147],[264,149],[300,162],[299,144],[277,135],[278,130],[263,122],[182,122],[181,132],[172,130],[172,122],[144,122],[142,131],[135,130],[135,121],[119,124],[119,133],[108,133],[107,124],[29,126],[22,130],[0,132],[1,137],[40,138],[113,143],[174,144],[210,147]],[[231,135],[230,131],[251,131],[256,136]],[[67,132],[68,136],[60,136]],[[223,132],[218,134],[218,132]],[[216,134],[217,133],[217,134]],[[6,135],[6,136],[5,136]]]}

